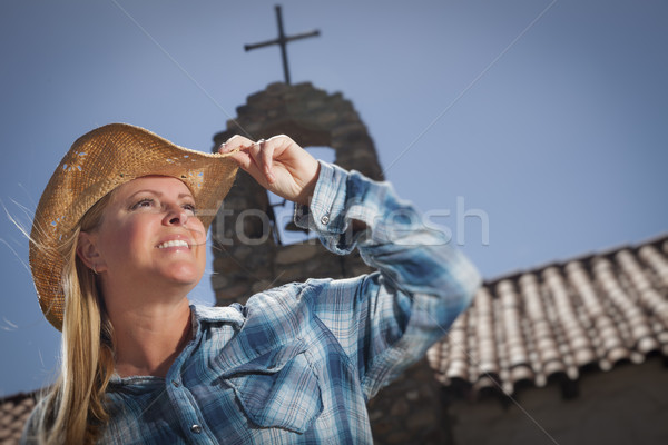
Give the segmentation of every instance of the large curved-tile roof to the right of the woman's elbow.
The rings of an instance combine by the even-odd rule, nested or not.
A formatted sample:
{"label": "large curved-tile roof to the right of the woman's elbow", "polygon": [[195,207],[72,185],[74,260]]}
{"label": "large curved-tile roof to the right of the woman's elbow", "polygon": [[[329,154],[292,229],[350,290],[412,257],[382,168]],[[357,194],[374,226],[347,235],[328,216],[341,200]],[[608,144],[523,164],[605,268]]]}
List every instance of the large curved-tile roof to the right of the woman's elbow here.
{"label": "large curved-tile roof to the right of the woman's elbow", "polygon": [[428,358],[480,397],[649,355],[668,357],[668,235],[485,283]]}

